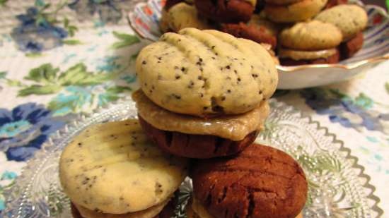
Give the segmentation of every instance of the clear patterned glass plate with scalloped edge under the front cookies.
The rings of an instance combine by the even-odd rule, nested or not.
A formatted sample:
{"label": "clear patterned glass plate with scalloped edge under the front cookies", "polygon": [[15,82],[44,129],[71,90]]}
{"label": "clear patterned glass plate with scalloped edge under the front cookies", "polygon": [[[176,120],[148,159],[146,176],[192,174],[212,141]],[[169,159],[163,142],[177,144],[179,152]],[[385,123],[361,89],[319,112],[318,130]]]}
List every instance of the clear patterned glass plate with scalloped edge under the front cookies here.
{"label": "clear patterned glass plate with scalloped edge under the front cookies", "polygon": [[[288,152],[303,166],[309,181],[304,217],[381,217],[375,188],[357,164],[350,150],[310,117],[294,107],[272,99],[272,112],[257,142]],[[91,116],[80,116],[58,131],[28,162],[9,193],[5,217],[71,217],[69,200],[59,186],[59,155],[67,143],[83,128],[94,123],[136,117],[134,102],[124,99],[99,109]],[[180,187],[179,205],[174,217],[185,217],[184,208],[190,191],[190,178]]]}

